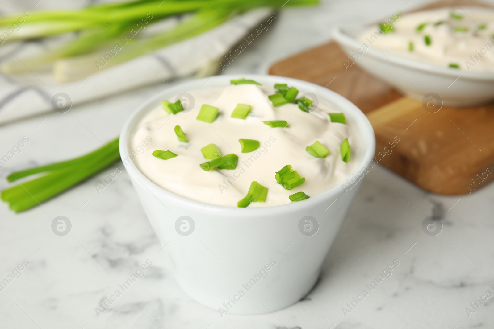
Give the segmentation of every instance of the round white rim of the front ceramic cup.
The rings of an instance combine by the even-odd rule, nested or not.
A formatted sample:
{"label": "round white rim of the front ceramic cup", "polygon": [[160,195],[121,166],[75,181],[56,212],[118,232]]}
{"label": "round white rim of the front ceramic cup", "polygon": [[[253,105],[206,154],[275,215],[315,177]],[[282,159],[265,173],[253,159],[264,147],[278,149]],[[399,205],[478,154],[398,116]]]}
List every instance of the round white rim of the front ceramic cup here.
{"label": "round white rim of the front ceramic cup", "polygon": [[[200,87],[206,85],[206,83],[211,80],[215,80],[215,84],[217,86],[221,85],[230,85],[230,80],[238,79],[244,77],[246,79],[253,79],[259,81],[263,84],[274,84],[276,82],[280,82],[281,79],[288,82],[288,84],[292,86],[296,86],[297,88],[307,91],[313,92],[316,95],[321,95],[320,97],[329,101],[332,105],[334,105],[337,109],[344,109],[345,113],[349,113],[350,117],[353,119],[354,124],[356,125],[356,131],[360,134],[361,139],[361,148],[366,148],[364,151],[364,155],[360,159],[360,163],[355,166],[355,170],[348,175],[348,178],[355,177],[355,175],[362,170],[369,169],[372,159],[374,158],[375,152],[375,136],[374,131],[372,129],[371,123],[368,120],[367,116],[355,106],[352,102],[344,98],[343,96],[337,94],[336,92],[329,90],[325,87],[319,86],[317,84],[298,80],[294,78],[282,77],[278,75],[268,75],[268,74],[224,74],[206,77],[202,79],[189,80],[182,83],[178,83],[174,86],[166,88],[164,91],[159,94],[151,97],[147,101],[145,101],[142,105],[140,105],[136,110],[134,110],[127,120],[124,123],[120,134],[119,141],[119,149],[120,156],[122,161],[129,157],[129,142],[130,138],[133,136],[133,129],[135,129],[136,124],[142,119],[143,115],[147,114],[150,110],[154,109],[154,107],[150,107],[152,104],[159,104],[159,102],[165,98],[173,97],[180,92],[190,91],[194,89],[199,89]],[[265,206],[265,207],[253,207],[253,208],[238,208],[238,207],[228,207],[228,206],[217,206],[210,205],[200,201],[188,199],[186,197],[175,194],[171,191],[166,190],[165,188],[157,185],[150,179],[148,179],[134,164],[131,160],[127,165],[124,163],[124,168],[127,170],[129,176],[134,176],[137,178],[141,184],[143,184],[155,197],[160,200],[160,197],[171,200],[173,203],[180,204],[182,206],[188,208],[199,209],[201,211],[206,211],[210,213],[219,213],[225,211],[235,211],[236,215],[244,215],[251,216],[256,214],[267,214],[267,212],[271,212],[273,214],[281,214],[287,212],[294,212],[297,210],[303,210],[307,208],[315,207],[320,204],[321,201],[324,201],[331,197],[337,197],[342,193],[342,185],[343,183],[347,183],[347,181],[343,181],[328,191],[316,195],[314,197],[310,197],[309,199],[302,200],[299,202],[286,203],[282,205],[276,206]],[[347,179],[348,179],[347,178]],[[161,200],[160,200],[161,201]],[[336,201],[336,200],[335,200]],[[288,207],[287,207],[288,205]]]}

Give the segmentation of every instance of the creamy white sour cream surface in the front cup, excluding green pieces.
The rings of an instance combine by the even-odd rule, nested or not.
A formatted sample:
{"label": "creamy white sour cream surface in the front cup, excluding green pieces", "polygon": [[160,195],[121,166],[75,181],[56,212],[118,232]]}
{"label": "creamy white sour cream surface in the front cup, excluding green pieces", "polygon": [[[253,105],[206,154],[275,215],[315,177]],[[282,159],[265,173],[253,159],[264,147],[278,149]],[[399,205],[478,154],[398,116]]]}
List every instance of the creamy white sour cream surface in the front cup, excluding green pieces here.
{"label": "creamy white sour cream surface in the front cup, excluding green pieces", "polygon": [[[268,187],[268,195],[266,202],[253,202],[249,207],[290,203],[288,196],[299,191],[313,197],[344,181],[351,174],[354,161],[345,163],[339,147],[347,137],[354,145],[354,134],[349,134],[347,125],[330,122],[327,114],[341,111],[330,109],[323,102],[311,113],[301,111],[296,104],[275,108],[268,99],[274,92],[272,87],[252,84],[205,88],[191,91],[195,107],[188,112],[168,114],[157,107],[144,117],[132,137],[134,148],[147,136],[152,138],[134,163],[166,190],[220,206],[236,207],[247,195],[252,181]],[[246,120],[231,117],[239,103],[252,106]],[[203,104],[219,109],[214,122],[196,119]],[[289,127],[271,128],[262,122],[267,120],[286,120]],[[185,132],[189,143],[178,141],[173,131],[176,125]],[[256,151],[241,153],[239,139],[257,140],[261,146]],[[329,149],[326,158],[315,158],[305,150],[316,141]],[[200,164],[209,160],[204,158],[201,148],[210,143],[216,144],[222,155],[237,154],[237,168],[204,171]],[[170,150],[178,156],[159,159],[152,155],[155,149]],[[305,183],[291,190],[285,190],[275,180],[275,172],[288,164],[305,177]]]}

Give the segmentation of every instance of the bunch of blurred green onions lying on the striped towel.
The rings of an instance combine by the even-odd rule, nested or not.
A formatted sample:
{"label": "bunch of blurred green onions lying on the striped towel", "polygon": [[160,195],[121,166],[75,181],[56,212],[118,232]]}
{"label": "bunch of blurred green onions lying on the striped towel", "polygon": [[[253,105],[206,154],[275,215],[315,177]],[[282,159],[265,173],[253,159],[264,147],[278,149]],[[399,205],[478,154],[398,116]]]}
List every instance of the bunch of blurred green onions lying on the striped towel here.
{"label": "bunch of blurred green onions lying on the striped towel", "polygon": [[[49,67],[53,69],[56,81],[69,82],[195,37],[252,8],[280,8],[285,4],[295,6],[316,3],[318,0],[139,0],[96,5],[81,10],[29,13],[20,29],[6,42],[74,32],[77,36],[44,53],[5,61],[0,66],[0,71],[18,74]],[[151,36],[135,37],[102,67],[94,64],[106,50],[121,42],[121,37],[135,29],[137,24],[153,24],[178,14],[191,16],[172,29]],[[0,17],[0,30],[9,28],[18,17],[19,15]]]}

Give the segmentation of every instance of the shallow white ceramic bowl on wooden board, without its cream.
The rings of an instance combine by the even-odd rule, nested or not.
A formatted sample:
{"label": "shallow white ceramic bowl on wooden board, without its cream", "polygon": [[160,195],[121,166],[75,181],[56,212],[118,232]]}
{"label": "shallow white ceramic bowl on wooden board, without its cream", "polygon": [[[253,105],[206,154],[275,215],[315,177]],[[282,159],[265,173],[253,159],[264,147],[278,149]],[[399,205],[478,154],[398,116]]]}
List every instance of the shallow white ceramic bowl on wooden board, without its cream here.
{"label": "shallow white ceramic bowl on wooden board, without its cream", "polygon": [[[365,27],[340,27],[333,31],[332,36],[347,55],[352,55],[362,49],[363,43],[358,37],[365,30]],[[423,100],[429,93],[439,95],[442,104],[448,106],[471,106],[494,99],[494,73],[442,68],[373,48],[367,49],[355,63],[418,100]],[[441,102],[441,99],[434,100]],[[433,99],[426,97],[426,101],[429,100]]]}

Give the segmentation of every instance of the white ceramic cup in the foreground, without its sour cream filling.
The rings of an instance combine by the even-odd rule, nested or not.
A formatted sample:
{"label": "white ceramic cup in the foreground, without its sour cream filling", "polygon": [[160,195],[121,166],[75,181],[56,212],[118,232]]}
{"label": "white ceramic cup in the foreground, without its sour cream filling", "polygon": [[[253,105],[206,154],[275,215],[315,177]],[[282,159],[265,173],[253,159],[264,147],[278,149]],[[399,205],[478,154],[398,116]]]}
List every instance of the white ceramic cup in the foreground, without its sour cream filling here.
{"label": "white ceramic cup in the foreground, without its sour cream filling", "polygon": [[[348,124],[360,134],[360,151],[352,153],[358,164],[356,172],[368,168],[374,156],[374,133],[366,116],[350,101],[301,80],[243,76],[268,85],[288,80],[301,92],[314,93],[333,109],[344,112]],[[206,81],[207,87],[226,86],[234,78],[239,76],[185,82],[135,110],[120,135],[124,163],[128,163],[125,159],[132,150],[130,141],[136,126],[160,101],[198,89]],[[166,246],[177,283],[193,299],[221,315],[268,313],[306,295],[316,283],[329,246],[362,183],[357,180],[347,193],[338,185],[289,206],[234,208],[206,205],[173,194],[147,179],[132,162],[126,169],[156,235]],[[180,229],[180,225],[184,226]]]}

